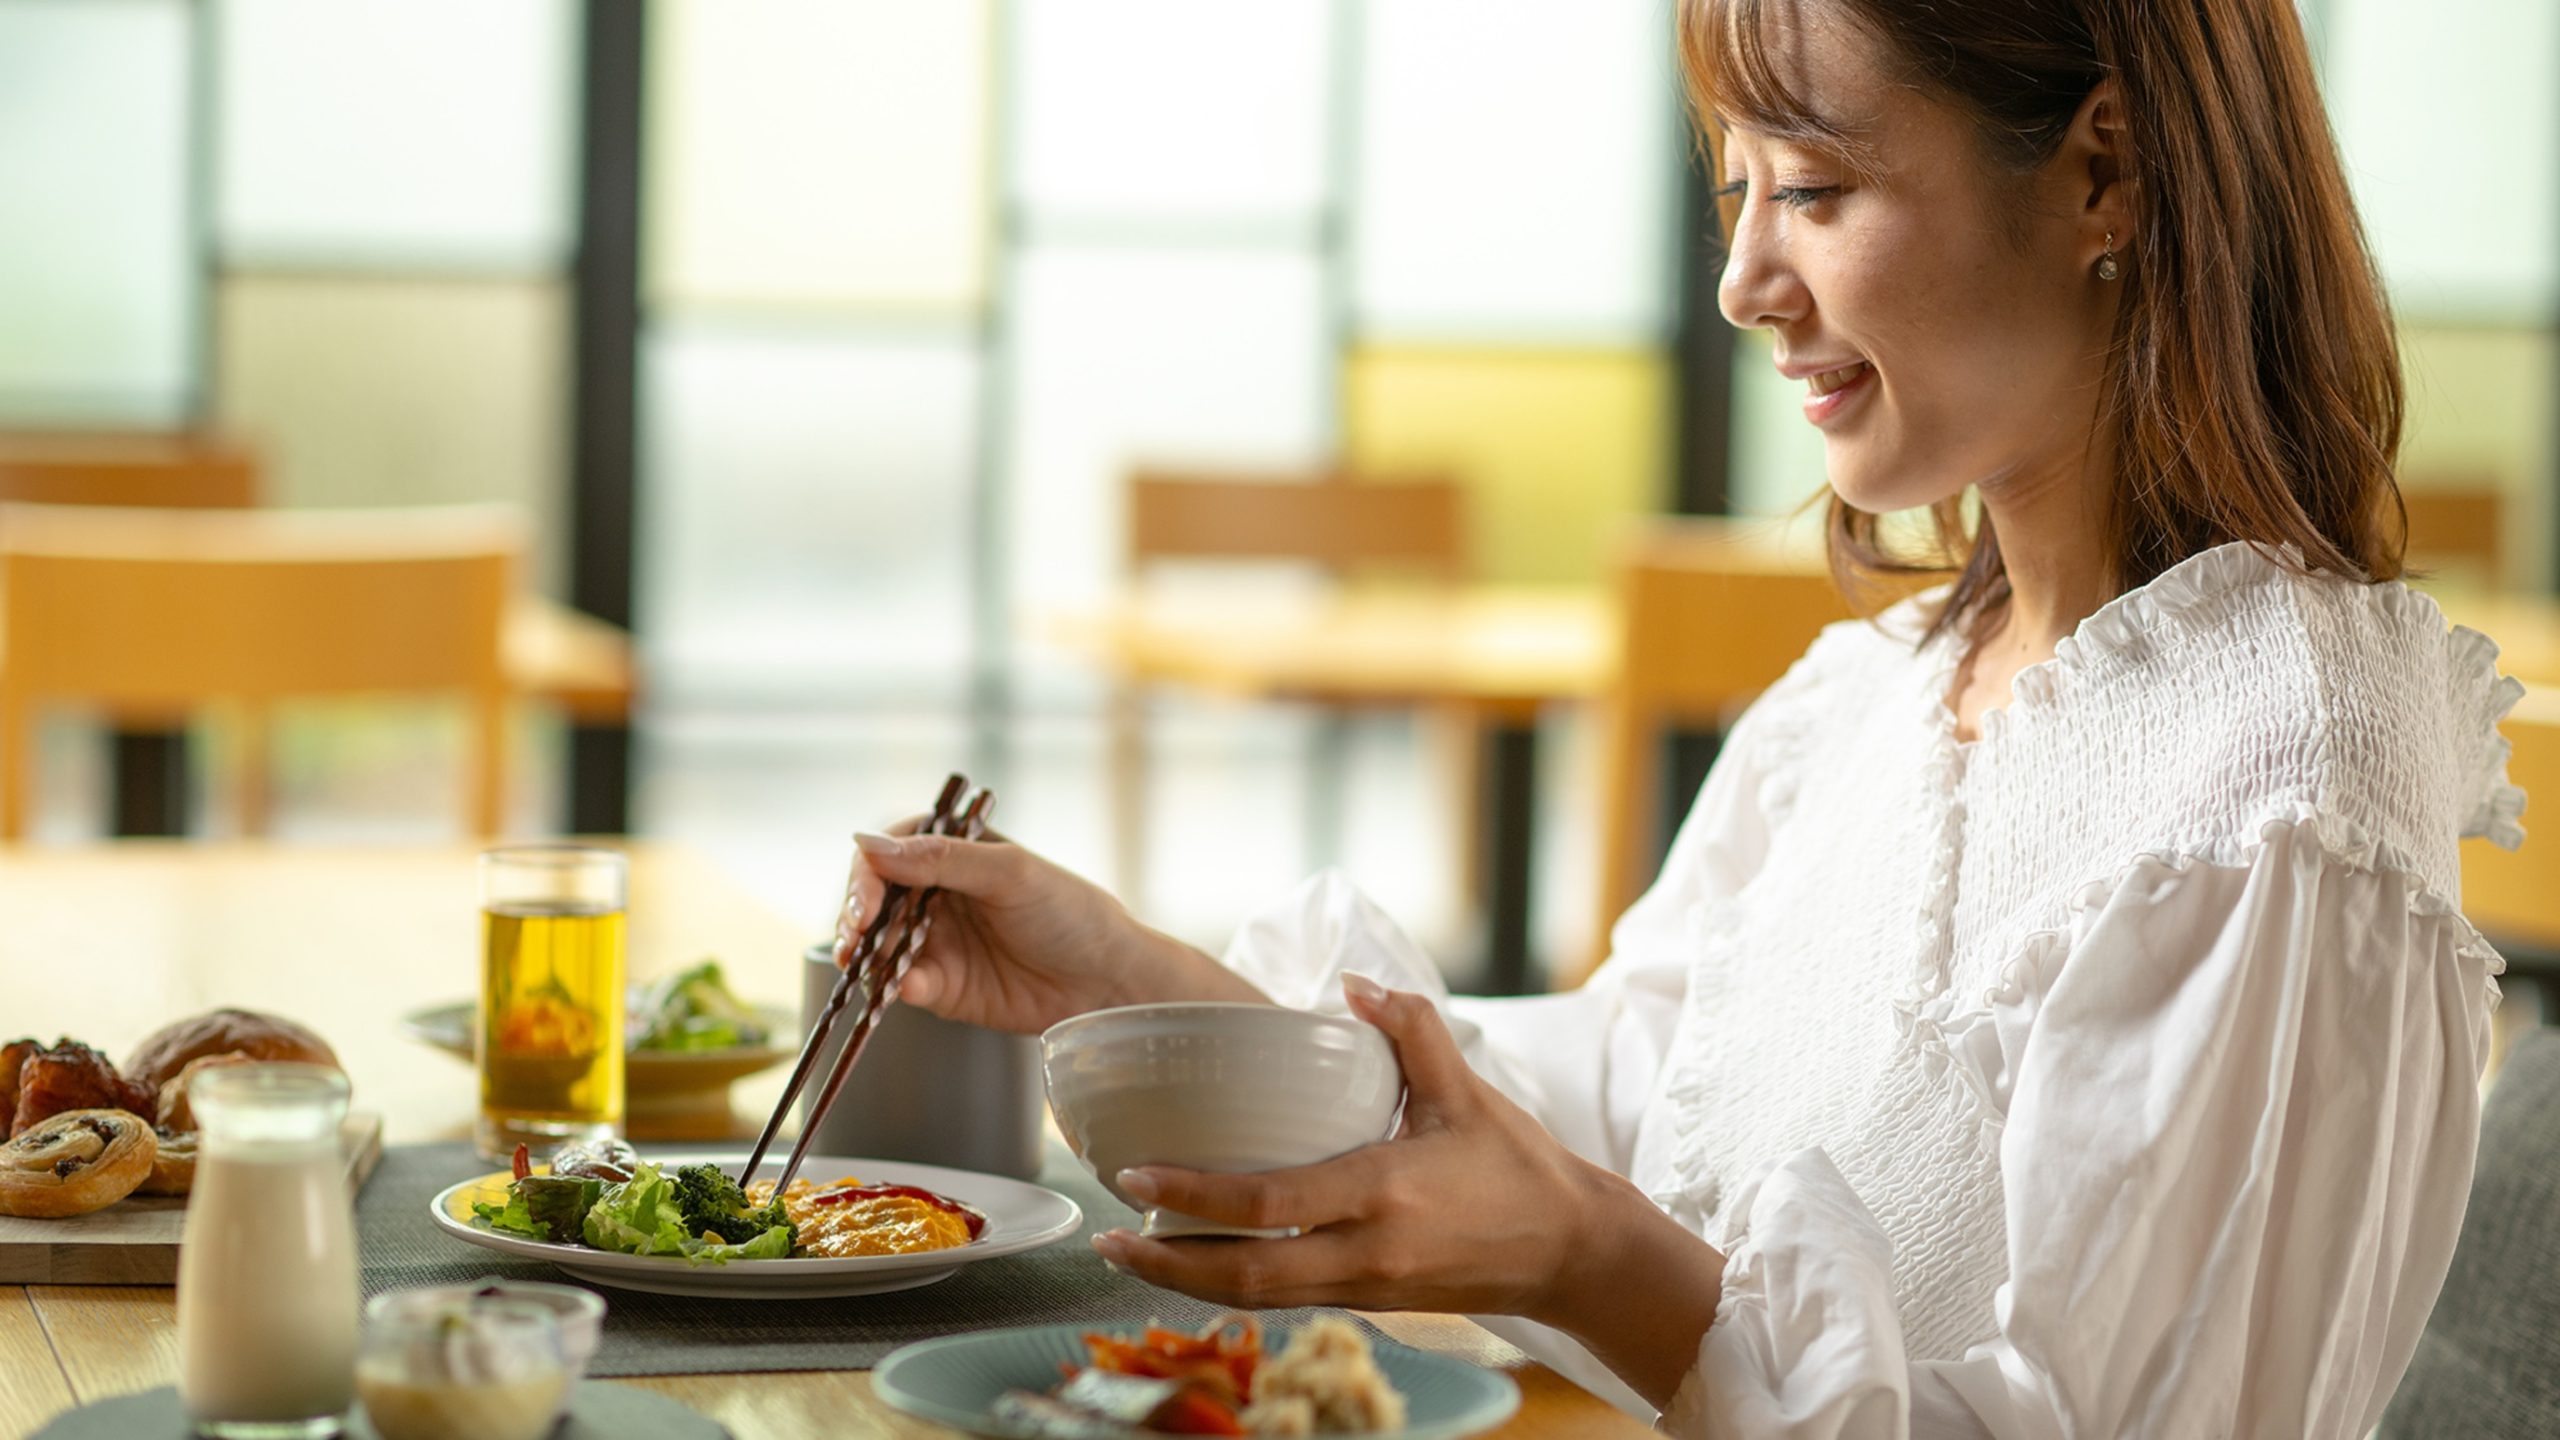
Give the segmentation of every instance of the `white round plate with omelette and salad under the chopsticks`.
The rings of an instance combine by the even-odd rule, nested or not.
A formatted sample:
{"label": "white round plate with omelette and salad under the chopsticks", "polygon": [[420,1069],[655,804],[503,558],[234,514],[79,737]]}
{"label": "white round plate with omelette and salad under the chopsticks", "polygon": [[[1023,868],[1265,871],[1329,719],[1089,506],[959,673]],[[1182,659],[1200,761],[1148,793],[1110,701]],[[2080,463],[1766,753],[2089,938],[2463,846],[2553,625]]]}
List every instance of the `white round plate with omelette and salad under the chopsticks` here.
{"label": "white round plate with omelette and salad under the chopsticks", "polygon": [[[781,1197],[740,1186],[737,1156],[573,1145],[430,1202],[458,1240],[550,1261],[576,1279],[658,1294],[824,1297],[940,1281],[960,1266],[1075,1232],[1073,1199],[1004,1176],[809,1156]],[[827,1176],[827,1179],[812,1179]]]}

